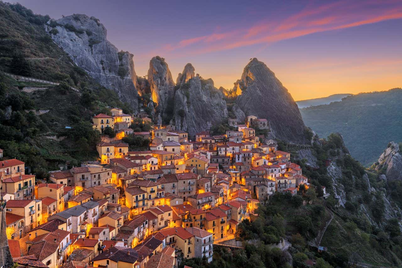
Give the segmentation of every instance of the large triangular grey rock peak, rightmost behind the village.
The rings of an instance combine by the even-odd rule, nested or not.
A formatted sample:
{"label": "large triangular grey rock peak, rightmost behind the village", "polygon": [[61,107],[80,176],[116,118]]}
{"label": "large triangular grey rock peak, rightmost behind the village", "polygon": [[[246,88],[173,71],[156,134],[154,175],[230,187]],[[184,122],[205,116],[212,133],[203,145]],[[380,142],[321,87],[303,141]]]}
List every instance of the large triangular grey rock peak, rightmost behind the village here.
{"label": "large triangular grey rock peak, rightmost behind the village", "polygon": [[240,93],[236,104],[245,115],[255,115],[271,122],[275,135],[283,140],[302,143],[304,123],[290,93],[267,65],[252,59],[235,83]]}

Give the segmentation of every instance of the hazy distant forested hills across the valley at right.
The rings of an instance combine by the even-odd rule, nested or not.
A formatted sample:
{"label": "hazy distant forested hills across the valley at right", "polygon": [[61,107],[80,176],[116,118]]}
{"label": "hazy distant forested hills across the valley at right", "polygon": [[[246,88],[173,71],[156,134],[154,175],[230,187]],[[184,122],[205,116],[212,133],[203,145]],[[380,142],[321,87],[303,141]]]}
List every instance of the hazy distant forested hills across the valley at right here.
{"label": "hazy distant forested hills across the valley at right", "polygon": [[367,166],[390,141],[402,141],[402,90],[361,93],[340,102],[300,109],[306,126],[320,137],[343,135],[351,155]]}

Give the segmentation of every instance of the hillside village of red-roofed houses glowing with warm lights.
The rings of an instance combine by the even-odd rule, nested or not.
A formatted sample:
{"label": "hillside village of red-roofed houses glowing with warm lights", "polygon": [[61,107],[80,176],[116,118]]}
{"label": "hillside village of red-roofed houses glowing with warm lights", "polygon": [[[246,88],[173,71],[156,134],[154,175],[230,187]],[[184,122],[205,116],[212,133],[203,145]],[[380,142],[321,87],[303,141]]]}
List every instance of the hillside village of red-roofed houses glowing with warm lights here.
{"label": "hillside village of red-roofed houses glowing with warm lights", "polygon": [[[152,126],[135,132],[136,120]],[[256,129],[255,116],[229,120],[235,130],[189,137],[112,108],[92,118],[102,141],[98,161],[35,179],[18,159],[0,161],[1,197],[14,262],[23,267],[177,267],[183,258],[213,259],[213,245],[235,239],[239,223],[258,216],[275,192],[309,187],[291,154]],[[105,130],[115,137],[105,135]],[[125,136],[149,139],[131,151]],[[0,158],[3,151],[0,149]],[[325,188],[323,189],[325,193]]]}

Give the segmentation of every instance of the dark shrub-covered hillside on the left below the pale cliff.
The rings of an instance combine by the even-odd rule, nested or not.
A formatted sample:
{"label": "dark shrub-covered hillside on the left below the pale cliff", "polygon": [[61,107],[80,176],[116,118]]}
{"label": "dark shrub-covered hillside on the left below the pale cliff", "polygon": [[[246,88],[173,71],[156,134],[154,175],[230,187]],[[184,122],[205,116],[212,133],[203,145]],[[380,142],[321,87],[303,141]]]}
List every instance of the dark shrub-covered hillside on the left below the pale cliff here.
{"label": "dark shrub-covered hillside on the left below the pale cliff", "polygon": [[107,113],[107,106],[130,112],[53,43],[43,28],[48,19],[0,2],[0,71],[60,83],[21,82],[0,72],[0,148],[4,157],[25,161],[37,178],[59,164],[96,159],[94,113]]}

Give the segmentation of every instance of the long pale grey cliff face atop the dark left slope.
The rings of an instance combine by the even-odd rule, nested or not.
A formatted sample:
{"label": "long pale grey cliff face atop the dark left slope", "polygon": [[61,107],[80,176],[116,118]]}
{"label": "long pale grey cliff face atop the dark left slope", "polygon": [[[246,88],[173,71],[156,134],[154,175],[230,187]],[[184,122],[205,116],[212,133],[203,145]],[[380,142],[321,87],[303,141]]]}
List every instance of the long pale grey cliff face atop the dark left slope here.
{"label": "long pale grey cliff face atop the dark left slope", "polygon": [[45,30],[75,64],[97,82],[113,89],[122,101],[138,108],[133,54],[119,52],[107,39],[107,30],[95,17],[74,14],[50,20]]}

